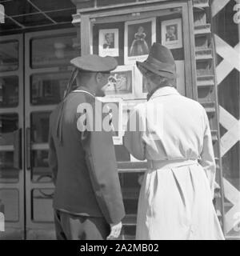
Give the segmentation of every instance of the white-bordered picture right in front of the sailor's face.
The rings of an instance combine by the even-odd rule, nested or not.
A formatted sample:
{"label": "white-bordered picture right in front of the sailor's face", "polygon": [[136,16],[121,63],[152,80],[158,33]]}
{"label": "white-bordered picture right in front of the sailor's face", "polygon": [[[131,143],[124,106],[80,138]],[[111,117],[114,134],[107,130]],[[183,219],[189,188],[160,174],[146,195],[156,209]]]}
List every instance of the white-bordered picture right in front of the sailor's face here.
{"label": "white-bordered picture right in front of the sailor's face", "polygon": [[134,67],[118,66],[116,70],[111,71],[105,94],[110,98],[134,98]]}

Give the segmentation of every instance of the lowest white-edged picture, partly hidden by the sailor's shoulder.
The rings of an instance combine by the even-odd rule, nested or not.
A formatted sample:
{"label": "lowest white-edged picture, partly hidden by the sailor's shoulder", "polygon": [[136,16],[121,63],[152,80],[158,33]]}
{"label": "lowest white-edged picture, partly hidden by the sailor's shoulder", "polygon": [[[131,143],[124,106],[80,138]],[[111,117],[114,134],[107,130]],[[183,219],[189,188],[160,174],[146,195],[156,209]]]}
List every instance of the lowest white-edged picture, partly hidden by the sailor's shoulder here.
{"label": "lowest white-edged picture, partly hidden by the sailor's shoulder", "polygon": [[122,98],[102,98],[102,113],[109,113],[112,119],[114,145],[122,145]]}

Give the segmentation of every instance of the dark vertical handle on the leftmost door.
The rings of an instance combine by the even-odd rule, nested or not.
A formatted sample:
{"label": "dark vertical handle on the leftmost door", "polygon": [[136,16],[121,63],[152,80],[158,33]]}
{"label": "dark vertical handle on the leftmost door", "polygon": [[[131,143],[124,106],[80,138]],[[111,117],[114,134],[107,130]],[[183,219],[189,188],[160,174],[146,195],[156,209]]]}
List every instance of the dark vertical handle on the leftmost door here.
{"label": "dark vertical handle on the leftmost door", "polygon": [[14,168],[22,169],[22,128],[14,131]]}

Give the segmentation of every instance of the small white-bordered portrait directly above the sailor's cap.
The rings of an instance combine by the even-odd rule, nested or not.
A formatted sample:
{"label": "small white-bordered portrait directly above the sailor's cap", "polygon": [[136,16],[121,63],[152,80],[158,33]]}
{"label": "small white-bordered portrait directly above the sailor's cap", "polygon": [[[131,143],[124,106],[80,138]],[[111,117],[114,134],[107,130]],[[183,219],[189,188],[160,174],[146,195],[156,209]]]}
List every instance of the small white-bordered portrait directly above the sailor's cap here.
{"label": "small white-bordered portrait directly above the sailor's cap", "polygon": [[118,29],[99,30],[99,55],[119,56]]}

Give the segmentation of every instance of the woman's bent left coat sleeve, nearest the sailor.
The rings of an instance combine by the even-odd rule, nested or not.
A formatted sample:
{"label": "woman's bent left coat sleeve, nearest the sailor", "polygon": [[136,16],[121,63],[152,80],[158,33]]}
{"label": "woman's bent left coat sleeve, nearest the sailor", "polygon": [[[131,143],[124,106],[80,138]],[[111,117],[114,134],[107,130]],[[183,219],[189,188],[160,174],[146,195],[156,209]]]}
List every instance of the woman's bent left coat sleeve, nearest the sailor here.
{"label": "woman's bent left coat sleeve, nearest the sailor", "polygon": [[123,138],[123,145],[129,151],[130,154],[138,160],[145,160],[145,142],[142,139],[143,120],[142,115],[139,113],[139,109],[136,108],[133,113],[130,114],[130,118],[127,122],[127,129]]}

